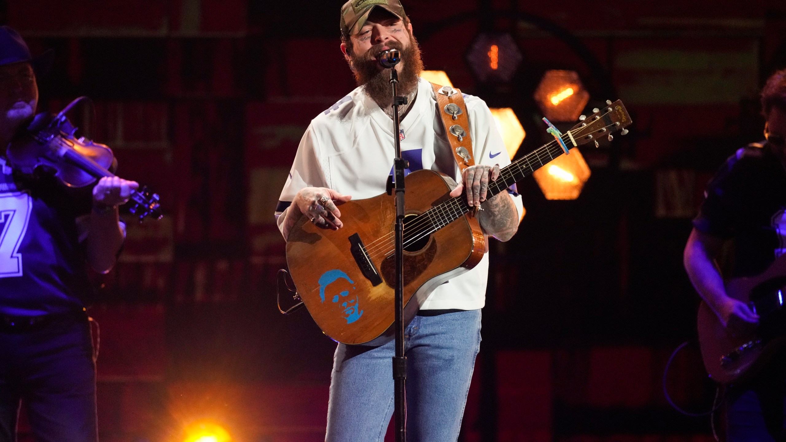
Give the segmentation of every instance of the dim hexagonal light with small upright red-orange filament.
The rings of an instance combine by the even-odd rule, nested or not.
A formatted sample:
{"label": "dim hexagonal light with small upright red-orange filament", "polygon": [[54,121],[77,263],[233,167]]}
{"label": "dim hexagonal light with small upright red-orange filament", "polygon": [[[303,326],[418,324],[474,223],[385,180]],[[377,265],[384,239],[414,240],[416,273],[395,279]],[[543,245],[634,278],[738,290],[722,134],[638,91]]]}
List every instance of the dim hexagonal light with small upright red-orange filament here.
{"label": "dim hexagonal light with small upright red-orange filament", "polygon": [[467,53],[472,72],[481,82],[509,82],[521,64],[521,51],[510,34],[479,34]]}

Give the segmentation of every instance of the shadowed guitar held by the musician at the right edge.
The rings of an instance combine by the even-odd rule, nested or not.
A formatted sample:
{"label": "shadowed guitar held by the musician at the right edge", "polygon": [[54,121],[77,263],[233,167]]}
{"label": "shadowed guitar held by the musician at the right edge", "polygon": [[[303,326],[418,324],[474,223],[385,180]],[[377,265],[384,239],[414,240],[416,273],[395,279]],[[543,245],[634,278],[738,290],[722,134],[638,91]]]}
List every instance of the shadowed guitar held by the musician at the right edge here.
{"label": "shadowed guitar held by the musician at the right edge", "polygon": [[786,255],[778,257],[757,276],[725,282],[726,294],[751,306],[759,316],[755,332],[729,333],[711,308],[699,306],[698,329],[701,356],[714,381],[729,384],[755,374],[786,344]]}

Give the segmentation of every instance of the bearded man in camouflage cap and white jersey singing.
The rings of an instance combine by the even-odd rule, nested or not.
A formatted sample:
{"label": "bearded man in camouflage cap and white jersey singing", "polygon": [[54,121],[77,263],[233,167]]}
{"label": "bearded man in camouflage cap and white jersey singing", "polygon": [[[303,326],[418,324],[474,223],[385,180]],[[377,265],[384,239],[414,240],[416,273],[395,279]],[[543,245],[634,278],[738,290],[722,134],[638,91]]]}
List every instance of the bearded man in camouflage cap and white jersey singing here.
{"label": "bearded man in camouflage cap and white jersey singing", "polygon": [[[480,206],[484,232],[500,241],[516,234],[523,211],[515,190],[486,201],[487,187],[510,159],[487,105],[465,95],[475,166],[459,171],[423,68],[412,24],[399,0],[351,0],[341,8],[341,50],[358,88],[311,121],[281,192],[277,223],[284,238],[303,215],[318,227],[338,230],[340,204],[386,190],[394,157],[390,72],[378,53],[397,49],[402,62],[402,157],[406,172],[430,168],[446,175]],[[452,179],[450,179],[452,178]],[[456,184],[459,182],[461,184]],[[417,190],[408,190],[415,192]],[[406,327],[406,425],[410,440],[455,441],[480,344],[480,309],[485,303],[488,257],[471,271],[439,285]],[[391,308],[392,308],[391,304]],[[333,362],[325,440],[383,440],[394,407],[393,341],[381,346],[339,344]]]}

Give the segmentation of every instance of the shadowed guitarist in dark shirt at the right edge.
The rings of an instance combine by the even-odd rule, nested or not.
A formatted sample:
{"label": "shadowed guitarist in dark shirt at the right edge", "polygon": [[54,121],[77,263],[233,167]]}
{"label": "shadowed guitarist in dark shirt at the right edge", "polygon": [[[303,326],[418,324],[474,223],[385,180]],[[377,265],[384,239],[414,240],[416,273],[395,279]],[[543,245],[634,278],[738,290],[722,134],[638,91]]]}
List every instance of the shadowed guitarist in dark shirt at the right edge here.
{"label": "shadowed guitarist in dark shirt at the right edge", "polygon": [[[753,303],[729,296],[724,278],[762,274],[786,253],[786,70],[769,77],[761,101],[766,140],[726,160],[707,187],[685,245],[692,284],[731,336],[760,332],[762,321]],[[728,240],[734,240],[733,261],[722,275],[718,262]],[[727,387],[726,440],[784,440],[786,352]]]}

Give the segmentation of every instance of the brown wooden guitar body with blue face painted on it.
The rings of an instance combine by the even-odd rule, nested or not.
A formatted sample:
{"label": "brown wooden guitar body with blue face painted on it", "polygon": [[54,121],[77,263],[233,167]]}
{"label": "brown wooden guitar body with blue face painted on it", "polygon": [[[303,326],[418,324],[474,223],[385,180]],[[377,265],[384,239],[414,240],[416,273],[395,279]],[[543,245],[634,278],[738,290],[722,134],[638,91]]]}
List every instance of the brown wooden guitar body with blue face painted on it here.
{"label": "brown wooden guitar body with blue face painted on it", "polygon": [[[450,187],[435,171],[415,171],[405,183],[408,216],[450,199]],[[348,201],[339,209],[339,230],[320,229],[305,216],[295,223],[287,238],[289,272],[310,315],[328,337],[344,344],[383,344],[393,338],[395,197],[382,194]],[[381,277],[376,285],[351,250],[358,239]],[[485,252],[483,232],[469,215],[407,246],[405,322],[438,285],[475,267]]]}

